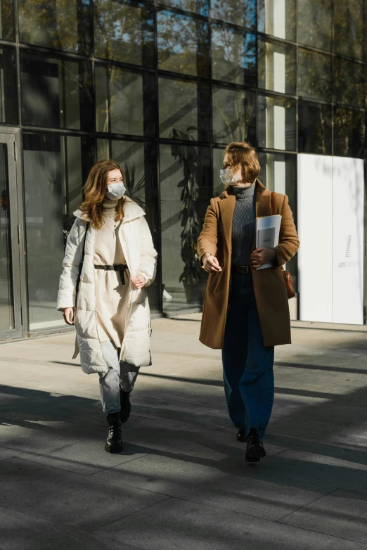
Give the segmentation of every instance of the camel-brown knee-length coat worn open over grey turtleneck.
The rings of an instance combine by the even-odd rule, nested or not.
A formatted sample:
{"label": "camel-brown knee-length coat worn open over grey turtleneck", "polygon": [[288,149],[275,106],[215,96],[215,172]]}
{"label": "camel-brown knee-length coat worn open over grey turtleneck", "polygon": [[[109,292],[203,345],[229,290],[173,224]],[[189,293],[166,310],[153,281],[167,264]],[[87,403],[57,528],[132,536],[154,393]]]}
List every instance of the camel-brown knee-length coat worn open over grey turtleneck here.
{"label": "camel-brown knee-length coat worn open over grey turtleneck", "polygon": [[[256,217],[271,216],[271,192],[257,179]],[[211,273],[207,281],[200,342],[221,349],[228,308],[231,281],[232,220],[236,197],[229,186],[220,197],[212,198],[198,238],[200,260],[205,252],[217,257],[221,271]],[[276,214],[281,214],[279,244],[274,248],[278,266],[288,262],[298,250],[300,241],[293,222],[288,197],[275,193]],[[255,240],[252,250],[255,249]],[[287,290],[280,267],[252,269],[257,310],[265,346],[290,344],[290,314]]]}

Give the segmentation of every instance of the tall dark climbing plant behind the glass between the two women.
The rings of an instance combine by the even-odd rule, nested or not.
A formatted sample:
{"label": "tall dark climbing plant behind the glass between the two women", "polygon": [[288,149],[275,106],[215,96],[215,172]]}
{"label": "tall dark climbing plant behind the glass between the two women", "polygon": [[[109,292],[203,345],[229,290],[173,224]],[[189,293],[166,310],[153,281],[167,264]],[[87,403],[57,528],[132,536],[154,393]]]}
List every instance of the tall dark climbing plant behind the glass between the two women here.
{"label": "tall dark climbing plant behind the glass between the two women", "polygon": [[[188,127],[186,132],[173,129],[170,139],[193,141],[191,132],[196,130]],[[198,151],[193,145],[181,145],[172,143],[171,153],[184,168],[184,178],[178,184],[181,191],[181,258],[184,262],[184,271],[179,276],[179,282],[195,285],[200,278],[200,261],[196,242],[200,234],[200,222],[198,219],[197,201],[199,196],[198,186]]]}

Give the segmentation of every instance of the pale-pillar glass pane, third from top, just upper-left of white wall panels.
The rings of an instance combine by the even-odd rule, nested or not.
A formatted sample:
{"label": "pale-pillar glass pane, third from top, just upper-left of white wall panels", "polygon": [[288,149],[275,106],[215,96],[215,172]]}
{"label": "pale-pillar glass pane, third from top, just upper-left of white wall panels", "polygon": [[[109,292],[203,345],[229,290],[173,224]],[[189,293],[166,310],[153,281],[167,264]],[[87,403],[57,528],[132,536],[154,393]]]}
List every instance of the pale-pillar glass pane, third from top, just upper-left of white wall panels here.
{"label": "pale-pillar glass pane, third from top, just upper-left of white wall panels", "polygon": [[296,102],[259,96],[259,147],[296,149]]}

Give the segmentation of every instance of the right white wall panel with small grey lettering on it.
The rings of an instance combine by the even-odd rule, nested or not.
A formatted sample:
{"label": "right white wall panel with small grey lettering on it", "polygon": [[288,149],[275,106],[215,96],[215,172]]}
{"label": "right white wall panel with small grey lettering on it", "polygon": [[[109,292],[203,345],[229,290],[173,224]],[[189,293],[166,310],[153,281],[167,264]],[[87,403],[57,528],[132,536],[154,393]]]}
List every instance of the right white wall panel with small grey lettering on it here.
{"label": "right white wall panel with small grey lettering on it", "polygon": [[333,322],[363,324],[363,160],[333,157]]}

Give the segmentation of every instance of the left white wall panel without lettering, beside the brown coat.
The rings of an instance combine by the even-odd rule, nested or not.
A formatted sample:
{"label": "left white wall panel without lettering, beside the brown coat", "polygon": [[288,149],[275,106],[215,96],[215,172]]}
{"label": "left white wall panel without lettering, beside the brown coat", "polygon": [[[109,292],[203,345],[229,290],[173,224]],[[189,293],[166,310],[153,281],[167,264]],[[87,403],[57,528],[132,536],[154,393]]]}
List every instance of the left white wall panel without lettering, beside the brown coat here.
{"label": "left white wall panel without lettering, beside the brown coat", "polygon": [[331,157],[298,155],[297,212],[300,319],[333,320]]}

